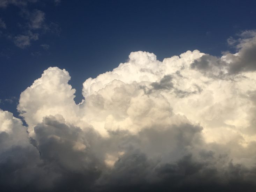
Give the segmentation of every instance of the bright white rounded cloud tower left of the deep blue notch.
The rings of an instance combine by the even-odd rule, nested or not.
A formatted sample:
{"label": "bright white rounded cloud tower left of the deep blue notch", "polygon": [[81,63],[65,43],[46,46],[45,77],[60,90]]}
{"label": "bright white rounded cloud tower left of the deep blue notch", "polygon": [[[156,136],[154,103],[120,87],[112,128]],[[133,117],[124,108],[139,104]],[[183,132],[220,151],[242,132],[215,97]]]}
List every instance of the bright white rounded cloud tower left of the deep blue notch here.
{"label": "bright white rounded cloud tower left of the deep blue notch", "polygon": [[24,112],[21,116],[30,131],[47,115],[61,114],[71,122],[76,119],[79,107],[74,102],[75,89],[67,83],[69,80],[65,69],[50,67],[21,93],[17,109]]}

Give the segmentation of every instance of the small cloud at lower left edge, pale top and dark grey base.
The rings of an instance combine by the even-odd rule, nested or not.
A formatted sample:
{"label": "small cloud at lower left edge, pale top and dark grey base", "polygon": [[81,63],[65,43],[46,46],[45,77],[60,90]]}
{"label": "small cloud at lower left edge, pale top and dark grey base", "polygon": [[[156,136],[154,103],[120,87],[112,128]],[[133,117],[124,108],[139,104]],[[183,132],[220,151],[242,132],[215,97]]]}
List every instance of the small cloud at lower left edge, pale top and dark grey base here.
{"label": "small cloud at lower left edge, pale top and dark grey base", "polygon": [[1,189],[25,188],[38,175],[34,168],[38,152],[28,140],[26,127],[12,113],[0,110],[0,127]]}

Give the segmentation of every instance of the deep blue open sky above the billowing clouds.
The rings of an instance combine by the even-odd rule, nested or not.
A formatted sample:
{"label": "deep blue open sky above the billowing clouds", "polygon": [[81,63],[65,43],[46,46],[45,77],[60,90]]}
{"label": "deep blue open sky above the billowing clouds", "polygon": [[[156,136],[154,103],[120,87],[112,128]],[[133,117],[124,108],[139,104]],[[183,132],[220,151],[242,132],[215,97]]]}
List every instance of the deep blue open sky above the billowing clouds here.
{"label": "deep blue open sky above the billowing clouds", "polygon": [[[160,61],[195,49],[220,56],[234,52],[229,37],[256,28],[256,2],[248,0],[18,2],[0,1],[0,107],[14,113],[21,91],[50,66],[67,69],[79,103],[88,77],[132,51]],[[20,35],[29,45],[15,44]]]}

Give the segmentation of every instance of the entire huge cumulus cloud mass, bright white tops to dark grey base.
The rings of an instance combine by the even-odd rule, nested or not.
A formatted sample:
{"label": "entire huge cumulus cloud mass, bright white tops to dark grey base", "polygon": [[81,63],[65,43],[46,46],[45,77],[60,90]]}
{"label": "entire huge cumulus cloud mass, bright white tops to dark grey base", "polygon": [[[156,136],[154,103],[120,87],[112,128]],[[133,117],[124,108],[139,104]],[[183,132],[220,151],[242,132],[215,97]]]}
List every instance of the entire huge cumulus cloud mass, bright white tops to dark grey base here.
{"label": "entire huge cumulus cloud mass, bright white tops to dark grey base", "polygon": [[256,34],[222,57],[187,51],[129,61],[83,83],[49,67],[0,111],[9,191],[255,191]]}

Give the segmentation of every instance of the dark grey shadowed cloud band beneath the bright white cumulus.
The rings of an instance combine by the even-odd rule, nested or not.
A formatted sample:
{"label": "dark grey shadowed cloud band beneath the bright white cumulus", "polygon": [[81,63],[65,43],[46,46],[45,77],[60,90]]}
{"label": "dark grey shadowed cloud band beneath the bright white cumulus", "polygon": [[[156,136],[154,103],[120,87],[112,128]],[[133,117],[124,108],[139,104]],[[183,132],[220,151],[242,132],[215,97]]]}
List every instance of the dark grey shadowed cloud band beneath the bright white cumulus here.
{"label": "dark grey shadowed cloud band beneath the bright white cumulus", "polygon": [[[200,192],[256,187],[256,168],[233,163],[225,150],[217,150],[218,144],[206,145],[200,126],[155,125],[137,135],[113,131],[103,138],[92,127],[81,130],[57,115],[35,127],[34,139],[20,128],[0,134],[0,186],[5,191]],[[123,154],[113,167],[106,167],[104,157],[116,151]]]}

